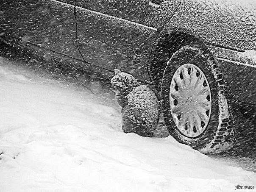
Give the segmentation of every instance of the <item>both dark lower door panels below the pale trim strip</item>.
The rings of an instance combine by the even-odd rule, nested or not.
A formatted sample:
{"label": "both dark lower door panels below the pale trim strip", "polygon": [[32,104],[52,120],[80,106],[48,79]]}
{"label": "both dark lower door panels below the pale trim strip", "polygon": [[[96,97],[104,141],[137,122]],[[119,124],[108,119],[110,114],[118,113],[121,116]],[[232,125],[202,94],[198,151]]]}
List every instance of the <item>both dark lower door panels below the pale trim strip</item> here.
{"label": "both dark lower door panels below the pale trim strip", "polygon": [[[37,45],[37,49],[43,47],[81,59],[75,45],[73,6],[52,1],[35,3],[32,0],[11,0],[2,7],[1,30],[8,39],[15,38],[24,43],[29,42],[28,46]],[[8,14],[15,9],[17,11]],[[123,22],[85,9],[77,9],[76,14],[78,45],[87,62],[110,70],[122,66],[122,70],[134,74],[136,78],[147,79],[147,73],[138,74],[143,68],[146,71],[148,47],[152,46],[156,35],[154,28]],[[38,51],[45,52],[45,57],[50,59],[47,50]]]}

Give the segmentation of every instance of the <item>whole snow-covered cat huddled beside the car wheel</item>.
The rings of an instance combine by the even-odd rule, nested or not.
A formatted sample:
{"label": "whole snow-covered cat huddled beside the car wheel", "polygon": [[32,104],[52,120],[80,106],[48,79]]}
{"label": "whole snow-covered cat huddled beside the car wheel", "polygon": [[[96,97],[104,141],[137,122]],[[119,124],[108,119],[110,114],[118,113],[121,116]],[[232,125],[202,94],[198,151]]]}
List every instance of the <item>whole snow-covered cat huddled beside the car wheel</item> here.
{"label": "whole snow-covered cat huddled beside the car wheel", "polygon": [[122,129],[141,136],[153,136],[159,120],[159,101],[146,85],[139,85],[136,79],[115,69],[111,89],[116,93],[122,107]]}

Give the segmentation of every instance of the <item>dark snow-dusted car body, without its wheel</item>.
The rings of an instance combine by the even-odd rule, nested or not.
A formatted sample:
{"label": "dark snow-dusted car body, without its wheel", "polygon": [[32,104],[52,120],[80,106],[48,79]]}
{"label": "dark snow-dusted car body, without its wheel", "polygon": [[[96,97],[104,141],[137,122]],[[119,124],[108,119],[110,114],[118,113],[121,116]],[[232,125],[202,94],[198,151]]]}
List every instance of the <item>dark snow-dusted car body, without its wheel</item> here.
{"label": "dark snow-dusted car body, without its wheel", "polygon": [[4,42],[108,76],[118,68],[158,92],[164,46],[203,45],[223,72],[228,102],[255,106],[254,0],[6,0],[0,18]]}

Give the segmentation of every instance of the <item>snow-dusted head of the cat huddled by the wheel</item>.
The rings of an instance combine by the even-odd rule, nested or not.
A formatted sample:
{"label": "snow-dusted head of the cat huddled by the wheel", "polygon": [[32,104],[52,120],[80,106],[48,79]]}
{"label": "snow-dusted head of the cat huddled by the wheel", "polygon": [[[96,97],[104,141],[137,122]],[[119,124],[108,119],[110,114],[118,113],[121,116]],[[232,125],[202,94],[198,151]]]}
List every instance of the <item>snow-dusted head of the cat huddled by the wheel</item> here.
{"label": "snow-dusted head of the cat huddled by the wheel", "polygon": [[127,92],[130,89],[138,86],[138,81],[136,81],[136,79],[132,75],[126,72],[121,72],[117,69],[115,69],[114,71],[115,76],[111,79],[111,89],[113,92],[116,93],[116,95]]}

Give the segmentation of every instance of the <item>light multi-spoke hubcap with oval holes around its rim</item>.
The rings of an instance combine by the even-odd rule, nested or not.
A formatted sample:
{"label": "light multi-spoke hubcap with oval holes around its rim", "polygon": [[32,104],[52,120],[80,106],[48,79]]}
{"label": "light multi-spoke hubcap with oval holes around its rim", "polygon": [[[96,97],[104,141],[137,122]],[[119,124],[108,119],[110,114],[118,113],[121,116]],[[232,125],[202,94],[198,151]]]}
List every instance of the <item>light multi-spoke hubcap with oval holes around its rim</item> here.
{"label": "light multi-spoke hubcap with oval holes around its rim", "polygon": [[208,125],[211,91],[206,76],[194,64],[183,64],[172,78],[170,109],[178,130],[187,137],[197,137]]}

